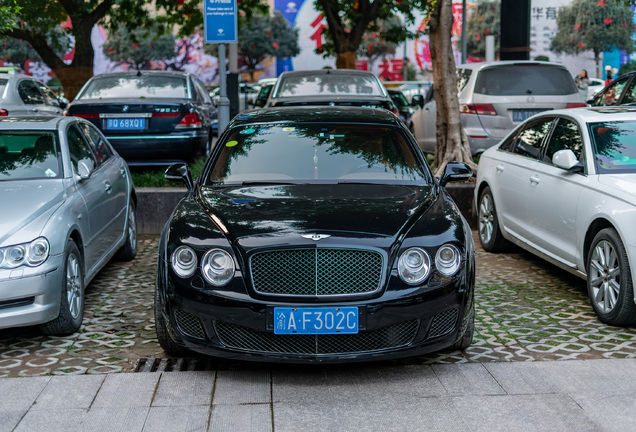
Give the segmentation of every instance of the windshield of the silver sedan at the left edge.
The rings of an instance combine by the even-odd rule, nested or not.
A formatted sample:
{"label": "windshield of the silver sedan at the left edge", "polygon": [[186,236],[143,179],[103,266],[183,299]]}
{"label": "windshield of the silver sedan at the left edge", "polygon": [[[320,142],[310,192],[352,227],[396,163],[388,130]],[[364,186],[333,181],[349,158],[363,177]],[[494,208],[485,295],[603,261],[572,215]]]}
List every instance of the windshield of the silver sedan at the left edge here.
{"label": "windshield of the silver sedan at the left edge", "polygon": [[51,131],[0,131],[0,181],[57,178],[60,151]]}

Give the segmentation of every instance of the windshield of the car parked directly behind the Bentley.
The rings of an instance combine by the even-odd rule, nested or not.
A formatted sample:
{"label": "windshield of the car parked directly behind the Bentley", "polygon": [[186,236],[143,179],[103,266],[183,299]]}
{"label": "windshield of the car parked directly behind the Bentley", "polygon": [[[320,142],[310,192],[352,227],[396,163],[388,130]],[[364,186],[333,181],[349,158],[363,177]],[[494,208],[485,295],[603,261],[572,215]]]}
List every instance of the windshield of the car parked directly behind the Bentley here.
{"label": "windshield of the car parked directly behind the Bentley", "polygon": [[285,77],[278,87],[275,97],[305,95],[367,95],[384,96],[382,84],[373,75],[293,75]]}

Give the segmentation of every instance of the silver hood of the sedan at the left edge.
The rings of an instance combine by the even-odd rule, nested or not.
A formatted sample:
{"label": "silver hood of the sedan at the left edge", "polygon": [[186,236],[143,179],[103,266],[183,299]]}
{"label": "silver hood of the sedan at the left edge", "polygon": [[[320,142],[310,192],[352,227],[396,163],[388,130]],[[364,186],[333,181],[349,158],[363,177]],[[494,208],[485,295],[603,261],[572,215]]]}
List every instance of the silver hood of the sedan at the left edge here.
{"label": "silver hood of the sedan at the left edge", "polygon": [[[22,180],[2,182],[0,202],[0,245],[10,238],[33,240],[45,222],[65,200],[62,180]],[[20,240],[22,241],[22,240]]]}

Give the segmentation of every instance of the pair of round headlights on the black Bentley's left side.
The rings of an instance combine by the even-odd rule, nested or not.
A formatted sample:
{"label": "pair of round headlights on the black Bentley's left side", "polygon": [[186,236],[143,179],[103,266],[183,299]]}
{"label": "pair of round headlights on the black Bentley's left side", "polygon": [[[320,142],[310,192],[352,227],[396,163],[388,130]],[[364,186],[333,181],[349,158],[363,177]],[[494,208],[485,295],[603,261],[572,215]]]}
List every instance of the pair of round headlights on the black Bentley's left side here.
{"label": "pair of round headlights on the black Bentley's left side", "polygon": [[[179,246],[170,258],[172,269],[181,278],[188,278],[197,270],[197,255],[189,246]],[[228,284],[234,277],[234,260],[223,249],[211,249],[201,259],[201,273],[214,286]]]}

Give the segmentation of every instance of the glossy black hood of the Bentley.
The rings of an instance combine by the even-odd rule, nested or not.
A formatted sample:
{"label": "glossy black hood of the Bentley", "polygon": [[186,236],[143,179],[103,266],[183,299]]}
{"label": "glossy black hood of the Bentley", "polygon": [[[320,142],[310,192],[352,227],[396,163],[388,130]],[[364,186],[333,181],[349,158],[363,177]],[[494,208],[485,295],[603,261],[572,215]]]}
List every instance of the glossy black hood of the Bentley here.
{"label": "glossy black hood of the Bentley", "polygon": [[393,239],[432,205],[434,191],[378,184],[203,188],[201,205],[234,239],[310,233]]}

